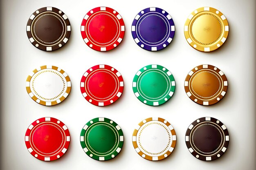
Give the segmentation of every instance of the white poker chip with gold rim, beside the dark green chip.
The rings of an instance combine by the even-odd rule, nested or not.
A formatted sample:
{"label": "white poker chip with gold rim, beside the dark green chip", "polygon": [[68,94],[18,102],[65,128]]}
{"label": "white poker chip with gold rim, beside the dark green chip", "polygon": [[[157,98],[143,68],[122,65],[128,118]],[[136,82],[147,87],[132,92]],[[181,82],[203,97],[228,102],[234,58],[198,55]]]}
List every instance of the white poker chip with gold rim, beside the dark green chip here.
{"label": "white poker chip with gold rim, beside the dark green chip", "polygon": [[176,133],[165,119],[150,117],[141,121],[132,134],[136,152],[150,161],[158,161],[171,155],[176,145]]}

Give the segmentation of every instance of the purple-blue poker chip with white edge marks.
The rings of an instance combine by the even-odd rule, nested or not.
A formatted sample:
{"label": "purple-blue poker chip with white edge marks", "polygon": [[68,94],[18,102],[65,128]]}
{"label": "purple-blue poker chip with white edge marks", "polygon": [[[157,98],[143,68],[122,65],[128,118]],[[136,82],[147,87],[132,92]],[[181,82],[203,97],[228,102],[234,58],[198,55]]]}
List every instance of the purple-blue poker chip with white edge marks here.
{"label": "purple-blue poker chip with white edge marks", "polygon": [[132,22],[132,37],[142,49],[159,51],[173,40],[175,26],[171,15],[160,8],[140,11]]}

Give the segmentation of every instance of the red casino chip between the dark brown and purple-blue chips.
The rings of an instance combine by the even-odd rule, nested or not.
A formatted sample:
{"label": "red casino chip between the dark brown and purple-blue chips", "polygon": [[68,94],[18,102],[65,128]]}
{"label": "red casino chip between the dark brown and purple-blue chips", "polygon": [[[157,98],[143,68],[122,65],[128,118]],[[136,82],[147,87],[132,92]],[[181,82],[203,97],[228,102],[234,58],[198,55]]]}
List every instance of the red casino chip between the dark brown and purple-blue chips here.
{"label": "red casino chip between the dark brown and purple-blue chips", "polygon": [[97,51],[109,51],[124,38],[124,20],[109,7],[97,7],[83,18],[81,34],[85,43]]}

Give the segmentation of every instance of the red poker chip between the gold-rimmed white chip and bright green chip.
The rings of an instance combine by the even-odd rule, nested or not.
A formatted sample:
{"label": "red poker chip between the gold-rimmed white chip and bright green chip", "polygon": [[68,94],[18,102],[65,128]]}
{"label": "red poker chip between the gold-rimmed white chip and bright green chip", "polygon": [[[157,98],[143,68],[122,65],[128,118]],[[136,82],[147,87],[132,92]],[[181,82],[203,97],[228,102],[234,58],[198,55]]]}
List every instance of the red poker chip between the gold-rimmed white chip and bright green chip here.
{"label": "red poker chip between the gold-rimmed white chip and bright green chip", "polygon": [[124,90],[122,75],[108,65],[88,69],[81,79],[83,97],[95,106],[107,106],[119,99]]}

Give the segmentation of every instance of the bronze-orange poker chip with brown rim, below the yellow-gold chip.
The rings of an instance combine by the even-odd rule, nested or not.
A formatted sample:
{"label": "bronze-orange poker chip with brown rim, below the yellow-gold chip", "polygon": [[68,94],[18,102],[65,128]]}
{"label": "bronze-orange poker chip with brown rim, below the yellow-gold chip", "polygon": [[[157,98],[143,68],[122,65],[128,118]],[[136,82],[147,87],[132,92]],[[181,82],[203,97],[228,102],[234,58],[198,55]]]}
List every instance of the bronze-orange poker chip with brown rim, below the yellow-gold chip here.
{"label": "bronze-orange poker chip with brown rim, below the yellow-gold chip", "polygon": [[227,92],[227,77],[217,67],[200,65],[193,68],[184,83],[186,94],[204,106],[218,103]]}

